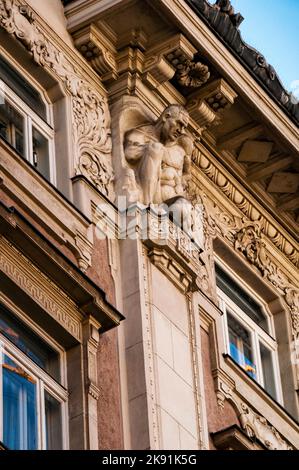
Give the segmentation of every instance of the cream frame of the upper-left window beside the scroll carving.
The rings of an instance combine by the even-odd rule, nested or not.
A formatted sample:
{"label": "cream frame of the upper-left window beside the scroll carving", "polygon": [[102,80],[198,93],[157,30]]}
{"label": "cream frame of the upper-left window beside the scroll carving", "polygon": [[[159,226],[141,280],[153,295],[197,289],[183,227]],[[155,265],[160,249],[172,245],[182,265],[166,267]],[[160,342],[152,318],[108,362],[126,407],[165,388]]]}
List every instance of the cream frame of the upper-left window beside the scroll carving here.
{"label": "cream frame of the upper-left window beside the scroll carving", "polygon": [[[27,79],[26,79],[27,80]],[[51,106],[46,100],[43,100],[46,105],[47,112],[47,122],[44,121],[33,109],[30,108],[3,80],[0,79],[0,92],[4,95],[5,100],[23,117],[24,120],[24,155],[22,156],[26,161],[28,161],[33,168],[34,158],[33,158],[33,127],[35,127],[43,137],[48,141],[48,158],[49,158],[49,179],[46,178],[54,186],[57,185],[57,175],[56,175],[56,159],[55,159],[55,141],[54,141],[54,129],[53,129],[53,116]],[[42,97],[42,93],[38,90]],[[4,138],[1,138],[4,142],[7,142]],[[8,142],[9,143],[9,142]],[[9,145],[11,145],[9,143]],[[19,154],[17,149],[12,145],[14,150]]]}

